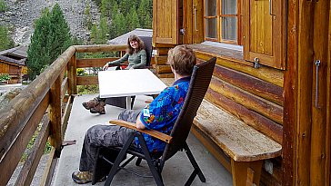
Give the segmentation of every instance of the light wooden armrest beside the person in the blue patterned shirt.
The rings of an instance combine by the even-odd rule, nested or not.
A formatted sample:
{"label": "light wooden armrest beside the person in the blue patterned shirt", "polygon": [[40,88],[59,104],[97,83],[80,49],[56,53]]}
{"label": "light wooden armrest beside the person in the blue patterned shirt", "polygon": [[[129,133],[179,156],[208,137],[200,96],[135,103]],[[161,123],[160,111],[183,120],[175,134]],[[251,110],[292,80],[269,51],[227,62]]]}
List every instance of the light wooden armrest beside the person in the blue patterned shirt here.
{"label": "light wooden armrest beside the person in the blue patterned shirt", "polygon": [[126,128],[129,128],[129,129],[133,129],[137,132],[143,132],[145,134],[148,134],[150,136],[153,136],[163,142],[167,142],[167,143],[170,143],[171,142],[171,139],[173,137],[169,136],[169,135],[166,135],[165,133],[162,133],[162,132],[158,132],[158,131],[155,131],[155,130],[151,130],[151,129],[144,129],[144,130],[141,130],[141,129],[137,129],[135,127],[135,123],[133,122],[125,122],[123,120],[111,120],[109,121],[109,123],[111,124],[115,124],[115,125],[119,125],[119,126],[123,126],[123,127],[126,127]]}

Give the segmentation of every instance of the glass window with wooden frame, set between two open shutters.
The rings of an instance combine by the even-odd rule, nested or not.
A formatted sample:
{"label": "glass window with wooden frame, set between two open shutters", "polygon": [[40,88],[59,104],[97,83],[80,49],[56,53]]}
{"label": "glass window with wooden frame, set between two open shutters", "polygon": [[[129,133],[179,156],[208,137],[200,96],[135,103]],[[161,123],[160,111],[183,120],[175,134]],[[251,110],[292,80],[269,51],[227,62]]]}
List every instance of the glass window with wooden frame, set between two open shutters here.
{"label": "glass window with wooden frame, set between two open shutters", "polygon": [[241,44],[240,1],[205,0],[205,39]]}

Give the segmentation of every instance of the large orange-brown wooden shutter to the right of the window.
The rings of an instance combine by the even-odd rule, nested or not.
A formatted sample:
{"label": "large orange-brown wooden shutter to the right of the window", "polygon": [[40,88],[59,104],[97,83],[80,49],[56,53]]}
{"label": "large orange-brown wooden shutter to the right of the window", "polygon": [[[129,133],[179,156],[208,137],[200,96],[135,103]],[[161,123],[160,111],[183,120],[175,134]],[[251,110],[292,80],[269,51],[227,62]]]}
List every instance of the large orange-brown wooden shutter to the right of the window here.
{"label": "large orange-brown wooden shutter to the right of the window", "polygon": [[245,0],[244,58],[286,69],[286,1]]}

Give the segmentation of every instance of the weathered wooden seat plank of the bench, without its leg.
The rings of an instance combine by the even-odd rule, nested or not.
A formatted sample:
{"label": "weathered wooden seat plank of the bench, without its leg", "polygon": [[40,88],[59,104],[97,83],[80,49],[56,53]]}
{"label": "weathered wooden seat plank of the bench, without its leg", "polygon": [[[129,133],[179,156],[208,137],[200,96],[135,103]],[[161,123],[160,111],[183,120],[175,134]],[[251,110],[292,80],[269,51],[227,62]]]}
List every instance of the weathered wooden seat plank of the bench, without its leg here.
{"label": "weathered wooden seat plank of the bench, without its leg", "polygon": [[236,162],[265,160],[281,154],[279,143],[212,103],[201,103],[194,123]]}

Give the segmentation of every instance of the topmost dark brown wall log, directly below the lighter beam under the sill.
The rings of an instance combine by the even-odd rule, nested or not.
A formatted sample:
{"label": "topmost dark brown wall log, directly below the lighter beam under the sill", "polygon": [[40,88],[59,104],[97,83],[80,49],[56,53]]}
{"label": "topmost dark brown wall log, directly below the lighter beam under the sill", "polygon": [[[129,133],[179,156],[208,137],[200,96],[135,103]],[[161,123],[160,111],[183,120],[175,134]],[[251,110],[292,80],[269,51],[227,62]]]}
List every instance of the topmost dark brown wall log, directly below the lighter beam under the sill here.
{"label": "topmost dark brown wall log, directly below the lighter beam under the sill", "polygon": [[246,73],[240,73],[220,65],[216,65],[214,75],[249,93],[256,94],[273,103],[283,105],[283,88],[280,86],[267,83]]}

